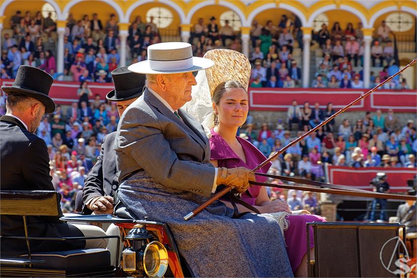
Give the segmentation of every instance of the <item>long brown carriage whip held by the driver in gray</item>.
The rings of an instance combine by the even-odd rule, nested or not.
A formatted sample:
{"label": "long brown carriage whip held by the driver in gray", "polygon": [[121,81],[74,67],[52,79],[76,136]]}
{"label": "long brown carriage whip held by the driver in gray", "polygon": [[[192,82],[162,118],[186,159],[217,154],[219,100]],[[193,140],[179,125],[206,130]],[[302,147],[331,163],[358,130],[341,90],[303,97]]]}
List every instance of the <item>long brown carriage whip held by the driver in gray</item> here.
{"label": "long brown carriage whip held by the driver in gray", "polygon": [[[314,131],[316,131],[318,128],[326,125],[327,123],[329,123],[331,120],[333,120],[334,118],[336,118],[337,116],[339,116],[341,113],[343,113],[344,111],[346,111],[348,108],[350,108],[352,105],[355,105],[357,102],[361,101],[362,99],[365,99],[367,96],[369,96],[371,93],[373,93],[376,89],[378,89],[379,87],[383,86],[385,83],[389,82],[392,80],[392,78],[394,78],[395,76],[398,76],[399,74],[401,74],[402,72],[404,72],[407,68],[409,68],[410,66],[412,66],[414,63],[416,63],[417,58],[414,59],[413,61],[411,61],[407,66],[405,66],[404,68],[402,68],[401,70],[399,70],[396,74],[390,76],[389,78],[387,78],[386,80],[384,80],[384,82],[379,83],[378,85],[376,85],[373,89],[369,90],[367,93],[365,93],[364,95],[361,95],[359,98],[357,98],[356,100],[350,102],[349,104],[347,104],[346,106],[344,106],[343,108],[341,108],[338,112],[336,112],[335,114],[331,115],[327,120],[324,120],[323,122],[321,122],[318,126],[315,126],[314,128],[310,129],[309,131],[307,131],[305,134],[301,135],[300,137],[298,137],[297,139],[295,139],[294,141],[292,141],[291,143],[289,143],[287,146],[285,146],[284,148],[282,148],[281,150],[275,152],[271,157],[269,157],[268,159],[266,159],[265,161],[263,161],[261,164],[259,164],[257,167],[255,167],[252,171],[256,172],[259,169],[261,169],[262,167],[264,167],[266,164],[268,164],[272,159],[274,159],[275,157],[277,157],[278,155],[282,154],[283,152],[287,151],[288,148],[290,148],[292,145],[297,144],[298,142],[300,142],[301,140],[303,140],[305,137],[307,137],[308,135],[312,134]],[[228,193],[229,191],[231,191],[233,188],[235,188],[234,186],[226,186],[225,188],[223,188],[222,190],[220,190],[219,192],[217,192],[216,194],[214,194],[209,200],[207,200],[206,202],[202,203],[201,205],[199,205],[196,209],[194,209],[192,212],[188,213],[186,216],[184,216],[184,220],[189,220],[192,217],[196,216],[198,213],[200,213],[203,209],[205,209],[206,207],[208,207],[210,204],[212,204],[213,202],[215,202],[216,200],[220,199],[223,195],[225,195],[226,193]]]}

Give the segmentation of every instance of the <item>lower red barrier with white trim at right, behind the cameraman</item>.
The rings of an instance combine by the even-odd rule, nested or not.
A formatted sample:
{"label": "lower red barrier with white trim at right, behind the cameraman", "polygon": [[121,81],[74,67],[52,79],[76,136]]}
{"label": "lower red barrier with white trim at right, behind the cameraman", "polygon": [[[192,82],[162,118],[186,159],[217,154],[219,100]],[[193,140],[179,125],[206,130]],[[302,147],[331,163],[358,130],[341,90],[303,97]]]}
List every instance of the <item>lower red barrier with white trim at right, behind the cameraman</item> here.
{"label": "lower red barrier with white trim at right, behind the cameraman", "polygon": [[413,179],[417,173],[417,168],[352,168],[326,165],[326,180],[338,185],[352,186],[355,188],[371,191],[370,186],[372,178],[376,173],[387,174],[387,182],[390,184],[391,192],[405,192],[410,189],[407,186],[407,180]]}

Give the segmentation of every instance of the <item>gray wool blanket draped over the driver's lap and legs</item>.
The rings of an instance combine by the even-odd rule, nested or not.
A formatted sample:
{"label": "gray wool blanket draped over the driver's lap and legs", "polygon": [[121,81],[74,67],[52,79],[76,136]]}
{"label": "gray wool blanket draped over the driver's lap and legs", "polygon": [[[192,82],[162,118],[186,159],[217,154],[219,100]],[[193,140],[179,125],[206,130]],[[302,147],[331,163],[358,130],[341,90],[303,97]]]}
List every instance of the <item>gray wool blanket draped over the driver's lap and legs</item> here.
{"label": "gray wool blanket draped over the driver's lap and legs", "polygon": [[208,199],[163,186],[144,171],[120,184],[118,198],[137,219],[148,216],[170,227],[195,277],[293,277],[281,229],[271,217],[232,219],[232,209],[214,202],[184,221]]}

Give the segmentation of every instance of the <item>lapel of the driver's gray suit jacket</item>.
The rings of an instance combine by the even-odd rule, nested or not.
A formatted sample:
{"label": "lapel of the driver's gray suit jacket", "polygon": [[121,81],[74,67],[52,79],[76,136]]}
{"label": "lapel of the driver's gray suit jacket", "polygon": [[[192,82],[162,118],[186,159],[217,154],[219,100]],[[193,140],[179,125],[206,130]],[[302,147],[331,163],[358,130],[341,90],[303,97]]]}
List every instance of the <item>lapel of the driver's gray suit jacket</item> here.
{"label": "lapel of the driver's gray suit jacket", "polygon": [[[202,140],[200,136],[201,132],[198,131],[197,128],[190,122],[191,117],[186,116],[183,117],[185,113],[183,113],[181,110],[179,110],[179,114],[182,117],[181,121],[177,116],[174,115],[174,113],[171,112],[171,110],[168,109],[161,101],[159,101],[151,92],[149,92],[147,89],[143,92],[143,98],[145,100],[148,100],[149,103],[154,106],[158,111],[163,114],[165,117],[168,117],[172,122],[177,123],[179,126],[182,127],[184,132],[189,134],[198,144],[203,147],[204,150],[206,150],[206,140]],[[193,120],[194,123],[197,123]]]}

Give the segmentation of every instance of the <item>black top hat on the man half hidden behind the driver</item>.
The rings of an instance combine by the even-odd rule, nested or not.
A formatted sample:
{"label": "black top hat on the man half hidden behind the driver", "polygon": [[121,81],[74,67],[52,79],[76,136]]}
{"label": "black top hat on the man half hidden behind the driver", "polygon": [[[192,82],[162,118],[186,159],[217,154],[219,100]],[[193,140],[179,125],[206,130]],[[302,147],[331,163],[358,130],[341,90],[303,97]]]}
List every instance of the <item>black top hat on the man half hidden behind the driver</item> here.
{"label": "black top hat on the man half hidden behind the driver", "polygon": [[142,95],[146,76],[128,70],[128,67],[118,68],[111,72],[114,90],[108,92],[109,101],[128,101]]}

